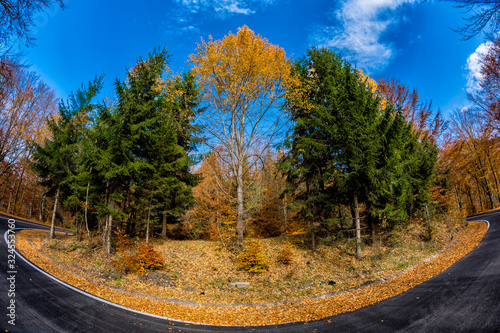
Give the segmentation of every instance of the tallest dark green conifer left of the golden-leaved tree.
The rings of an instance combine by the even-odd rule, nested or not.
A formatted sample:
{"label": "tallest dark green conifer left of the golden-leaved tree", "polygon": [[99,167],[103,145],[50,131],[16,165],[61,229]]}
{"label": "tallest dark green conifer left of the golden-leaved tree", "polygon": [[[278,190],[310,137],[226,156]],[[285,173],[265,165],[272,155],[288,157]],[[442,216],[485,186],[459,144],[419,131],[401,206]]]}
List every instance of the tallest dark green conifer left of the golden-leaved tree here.
{"label": "tallest dark green conifer left of the golden-leaved tree", "polygon": [[[96,171],[105,184],[103,242],[111,253],[113,220],[145,222],[146,239],[152,214],[181,215],[192,203],[187,152],[194,147],[190,125],[196,91],[189,75],[165,82],[168,73],[165,49],[155,49],[146,60],[138,59],[125,81],[116,82],[118,100],[103,110]],[[126,206],[128,203],[128,207]],[[145,208],[144,208],[145,207]]]}

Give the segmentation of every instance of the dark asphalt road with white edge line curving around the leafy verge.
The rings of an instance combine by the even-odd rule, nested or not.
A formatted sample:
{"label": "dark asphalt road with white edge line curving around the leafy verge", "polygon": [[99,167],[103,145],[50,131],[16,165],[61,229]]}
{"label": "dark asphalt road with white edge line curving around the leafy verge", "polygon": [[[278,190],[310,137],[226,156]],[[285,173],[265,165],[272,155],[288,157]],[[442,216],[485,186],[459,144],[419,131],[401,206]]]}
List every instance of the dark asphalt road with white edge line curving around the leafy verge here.
{"label": "dark asphalt road with white edge line curving around the leafy verge", "polygon": [[[0,215],[2,235],[7,219]],[[483,241],[429,281],[351,313],[264,327],[186,324],[115,307],[53,281],[17,255],[15,273],[8,273],[12,262],[2,238],[0,332],[500,332],[500,213],[469,218],[474,220],[490,223]],[[17,219],[15,227],[47,228]],[[14,310],[8,309],[12,300]]]}

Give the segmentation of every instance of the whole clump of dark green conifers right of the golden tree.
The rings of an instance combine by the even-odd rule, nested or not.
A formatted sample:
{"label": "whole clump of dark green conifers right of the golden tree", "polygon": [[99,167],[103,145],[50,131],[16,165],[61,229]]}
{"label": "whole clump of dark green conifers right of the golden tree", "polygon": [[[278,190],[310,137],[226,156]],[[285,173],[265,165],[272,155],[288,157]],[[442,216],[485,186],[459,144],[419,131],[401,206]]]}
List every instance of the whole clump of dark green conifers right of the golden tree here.
{"label": "whole clump of dark green conifers right of the golden tree", "polygon": [[[312,249],[315,226],[336,204],[347,204],[360,258],[360,206],[372,228],[401,223],[409,202],[428,193],[435,144],[423,143],[426,136],[420,139],[402,110],[381,103],[373,82],[339,55],[312,48],[294,70],[308,87],[307,103],[288,103],[294,125],[282,168],[291,188],[302,192],[298,198],[311,221]],[[431,157],[420,158],[426,154]]]}

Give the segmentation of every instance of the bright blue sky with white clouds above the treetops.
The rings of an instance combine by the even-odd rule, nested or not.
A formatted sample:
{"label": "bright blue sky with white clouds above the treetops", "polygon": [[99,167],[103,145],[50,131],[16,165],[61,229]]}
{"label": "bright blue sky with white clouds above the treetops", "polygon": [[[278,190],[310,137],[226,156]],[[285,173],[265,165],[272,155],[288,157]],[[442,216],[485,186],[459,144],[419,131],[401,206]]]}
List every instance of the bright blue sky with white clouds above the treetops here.
{"label": "bright blue sky with white clouds above the treetops", "polygon": [[25,61],[66,99],[95,75],[114,98],[139,57],[157,46],[174,73],[190,68],[202,38],[215,40],[247,25],[288,57],[327,47],[372,78],[395,78],[447,116],[467,106],[474,89],[482,35],[468,41],[453,31],[467,13],[447,1],[420,0],[66,0],[35,17],[36,46]]}

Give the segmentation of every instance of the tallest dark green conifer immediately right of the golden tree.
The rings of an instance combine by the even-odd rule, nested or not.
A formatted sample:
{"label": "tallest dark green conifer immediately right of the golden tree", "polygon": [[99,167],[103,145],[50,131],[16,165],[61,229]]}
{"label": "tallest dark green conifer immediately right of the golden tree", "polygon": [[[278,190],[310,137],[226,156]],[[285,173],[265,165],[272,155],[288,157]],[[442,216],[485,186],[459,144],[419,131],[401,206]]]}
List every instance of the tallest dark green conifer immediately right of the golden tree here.
{"label": "tallest dark green conifer immediately right of the golden tree", "polygon": [[308,50],[295,70],[308,87],[310,108],[289,103],[294,126],[285,144],[289,152],[284,168],[295,187],[305,185],[312,249],[315,219],[328,214],[332,203],[343,201],[353,210],[359,258],[359,204],[367,200],[374,173],[379,100],[359,71],[327,49]]}

